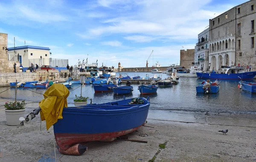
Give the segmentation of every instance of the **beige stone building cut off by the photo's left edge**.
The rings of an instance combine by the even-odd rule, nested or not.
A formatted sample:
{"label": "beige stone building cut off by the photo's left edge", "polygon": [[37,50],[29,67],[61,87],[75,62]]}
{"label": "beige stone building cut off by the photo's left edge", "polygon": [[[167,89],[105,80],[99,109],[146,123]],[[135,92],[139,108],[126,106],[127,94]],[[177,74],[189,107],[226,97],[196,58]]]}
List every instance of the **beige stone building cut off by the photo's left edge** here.
{"label": "beige stone building cut off by the photo's left edge", "polygon": [[[8,35],[5,33],[0,33],[0,73],[1,72],[13,72],[13,64],[9,64],[8,55],[3,47],[8,44]],[[17,69],[17,68],[16,68]]]}

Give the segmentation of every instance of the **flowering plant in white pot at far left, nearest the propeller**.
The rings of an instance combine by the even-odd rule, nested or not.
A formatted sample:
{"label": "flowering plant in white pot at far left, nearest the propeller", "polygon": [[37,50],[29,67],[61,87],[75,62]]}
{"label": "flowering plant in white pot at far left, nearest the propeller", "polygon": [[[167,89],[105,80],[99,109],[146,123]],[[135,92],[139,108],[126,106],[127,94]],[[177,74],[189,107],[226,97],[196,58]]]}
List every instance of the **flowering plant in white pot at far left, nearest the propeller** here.
{"label": "flowering plant in white pot at far left, nearest the propeller", "polygon": [[7,125],[20,125],[20,117],[25,114],[25,100],[19,102],[6,102],[4,104]]}

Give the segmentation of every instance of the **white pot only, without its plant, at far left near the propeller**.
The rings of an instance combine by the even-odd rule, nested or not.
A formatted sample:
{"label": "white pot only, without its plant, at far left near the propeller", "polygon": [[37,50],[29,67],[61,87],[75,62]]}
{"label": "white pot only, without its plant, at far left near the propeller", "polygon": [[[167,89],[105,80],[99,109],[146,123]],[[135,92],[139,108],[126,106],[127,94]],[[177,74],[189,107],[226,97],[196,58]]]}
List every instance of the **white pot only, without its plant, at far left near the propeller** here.
{"label": "white pot only, without its plant, at far left near the propeller", "polygon": [[6,124],[7,125],[20,125],[20,117],[24,117],[25,110],[6,110]]}

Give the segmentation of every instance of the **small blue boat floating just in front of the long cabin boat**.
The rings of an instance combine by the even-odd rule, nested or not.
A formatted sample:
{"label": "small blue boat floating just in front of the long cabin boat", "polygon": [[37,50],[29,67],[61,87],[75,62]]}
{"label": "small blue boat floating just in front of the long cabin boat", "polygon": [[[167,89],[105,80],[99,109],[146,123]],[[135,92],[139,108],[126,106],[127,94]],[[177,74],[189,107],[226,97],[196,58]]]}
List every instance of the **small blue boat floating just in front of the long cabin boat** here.
{"label": "small blue boat floating just in front of the long cabin boat", "polygon": [[209,88],[204,88],[204,84],[206,84],[206,81],[203,81],[202,83],[198,84],[198,86],[196,86],[196,93],[218,93],[220,89],[218,81],[209,83]]}

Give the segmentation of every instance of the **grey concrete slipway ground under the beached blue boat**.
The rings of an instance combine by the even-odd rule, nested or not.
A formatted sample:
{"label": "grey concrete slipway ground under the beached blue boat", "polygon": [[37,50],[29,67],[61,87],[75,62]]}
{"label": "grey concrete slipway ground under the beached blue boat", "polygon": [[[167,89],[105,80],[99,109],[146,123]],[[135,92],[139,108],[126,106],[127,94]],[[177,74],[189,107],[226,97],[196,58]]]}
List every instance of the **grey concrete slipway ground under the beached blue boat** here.
{"label": "grey concrete slipway ground under the beached blue boat", "polygon": [[[0,105],[4,104],[0,99]],[[27,104],[26,114],[38,104]],[[162,112],[162,114],[161,114]],[[150,110],[147,126],[128,135],[148,143],[115,140],[89,142],[81,156],[62,155],[58,162],[250,162],[256,160],[256,115]],[[218,130],[228,129],[227,135]],[[31,127],[6,125],[0,106],[0,162],[55,162],[53,127],[40,116]],[[140,136],[146,134],[147,136]],[[166,144],[160,148],[159,144]]]}

